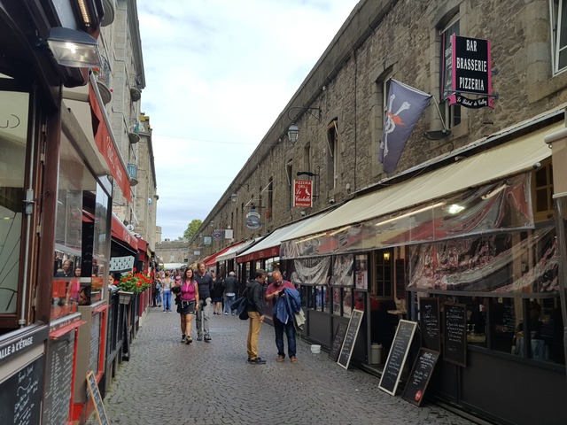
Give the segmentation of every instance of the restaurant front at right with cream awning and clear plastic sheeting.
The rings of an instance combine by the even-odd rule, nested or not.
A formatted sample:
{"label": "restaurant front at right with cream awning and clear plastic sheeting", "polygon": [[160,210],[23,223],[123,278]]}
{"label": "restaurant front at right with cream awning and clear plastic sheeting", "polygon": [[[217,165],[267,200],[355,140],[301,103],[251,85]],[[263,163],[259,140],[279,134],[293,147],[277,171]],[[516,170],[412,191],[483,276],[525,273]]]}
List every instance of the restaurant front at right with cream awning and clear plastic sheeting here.
{"label": "restaurant front at right with cream awning and clear plastic sheeting", "polygon": [[[499,423],[536,423],[542,412],[562,423],[565,258],[543,143],[562,118],[550,112],[473,143],[454,153],[459,161],[416,169],[283,241],[281,257],[293,262],[291,282],[308,306],[307,337],[329,348],[353,306],[363,310],[353,360],[369,367],[372,344],[385,359],[396,322],[420,322],[423,305],[435,303],[446,321],[428,397]],[[463,321],[456,357],[447,351],[454,312]],[[417,347],[423,338],[416,334]]]}

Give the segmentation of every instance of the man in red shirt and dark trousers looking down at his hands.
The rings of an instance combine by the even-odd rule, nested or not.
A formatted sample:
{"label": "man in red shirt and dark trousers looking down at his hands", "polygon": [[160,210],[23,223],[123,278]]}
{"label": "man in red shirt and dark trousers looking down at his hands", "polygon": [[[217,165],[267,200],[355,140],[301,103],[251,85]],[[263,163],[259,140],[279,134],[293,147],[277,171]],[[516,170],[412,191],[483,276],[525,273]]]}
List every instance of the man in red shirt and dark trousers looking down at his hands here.
{"label": "man in red shirt and dark trousers looking down at his hands", "polygon": [[[290,357],[291,363],[296,363],[298,361],[296,357],[296,342],[295,342],[295,325],[293,324],[293,316],[287,314],[285,300],[284,288],[289,290],[295,290],[293,284],[289,281],[284,281],[283,276],[279,270],[275,270],[272,274],[274,282],[268,285],[268,290],[266,290],[266,301],[271,302],[273,306],[272,318],[274,320],[274,330],[276,333],[276,348],[277,348],[277,361],[283,361],[285,359],[285,347],[283,346],[283,332],[287,336],[287,352]],[[299,292],[297,294],[299,297]],[[299,301],[300,302],[300,301]],[[281,303],[276,307],[276,303]],[[286,317],[286,321],[280,321],[278,319],[278,313],[283,314]],[[280,315],[280,318],[282,316]]]}

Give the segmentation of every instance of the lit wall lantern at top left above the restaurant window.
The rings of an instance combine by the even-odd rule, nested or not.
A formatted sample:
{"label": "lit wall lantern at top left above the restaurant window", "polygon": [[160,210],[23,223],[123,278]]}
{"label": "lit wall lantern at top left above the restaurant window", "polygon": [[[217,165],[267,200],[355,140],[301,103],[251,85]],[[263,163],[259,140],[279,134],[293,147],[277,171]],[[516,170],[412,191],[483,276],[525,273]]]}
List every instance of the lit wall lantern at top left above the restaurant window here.
{"label": "lit wall lantern at top left above the restaurant window", "polygon": [[72,68],[100,66],[97,40],[84,31],[52,27],[47,44],[59,65]]}

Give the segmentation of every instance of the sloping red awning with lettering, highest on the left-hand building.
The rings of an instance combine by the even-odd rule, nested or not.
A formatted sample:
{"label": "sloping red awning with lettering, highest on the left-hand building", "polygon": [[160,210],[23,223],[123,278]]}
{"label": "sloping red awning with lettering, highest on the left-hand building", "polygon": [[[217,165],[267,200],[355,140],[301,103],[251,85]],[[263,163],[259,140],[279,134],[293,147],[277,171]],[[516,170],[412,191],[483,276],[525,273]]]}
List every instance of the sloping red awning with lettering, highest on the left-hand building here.
{"label": "sloping red awning with lettering, highest on the left-hand building", "polygon": [[124,168],[124,164],[120,160],[120,153],[116,150],[110,131],[106,127],[105,118],[103,116],[103,112],[100,110],[97,95],[90,83],[89,104],[93,113],[93,132],[95,134],[95,143],[97,143],[98,151],[100,151],[102,156],[105,157],[106,163],[110,166],[114,180],[122,191],[122,195],[124,195],[128,201],[132,202],[128,173],[126,172],[126,168]]}

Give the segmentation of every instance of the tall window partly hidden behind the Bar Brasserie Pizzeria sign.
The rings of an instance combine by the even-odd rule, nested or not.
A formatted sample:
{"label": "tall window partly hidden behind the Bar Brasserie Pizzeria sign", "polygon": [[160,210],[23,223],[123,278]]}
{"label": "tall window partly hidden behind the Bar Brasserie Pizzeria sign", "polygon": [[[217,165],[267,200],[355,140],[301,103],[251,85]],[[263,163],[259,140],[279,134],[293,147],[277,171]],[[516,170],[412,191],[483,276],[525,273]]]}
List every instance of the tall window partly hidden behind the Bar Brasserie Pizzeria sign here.
{"label": "tall window partly hidden behind the Bar Brasserie Pizzeria sign", "polygon": [[452,42],[451,35],[459,35],[459,20],[454,19],[445,29],[441,31],[441,81],[439,87],[441,88],[441,103],[439,110],[443,115],[443,120],[447,128],[453,128],[461,124],[461,106],[454,104],[449,106],[447,96],[452,94],[452,80],[453,80],[453,62],[452,62]]}

